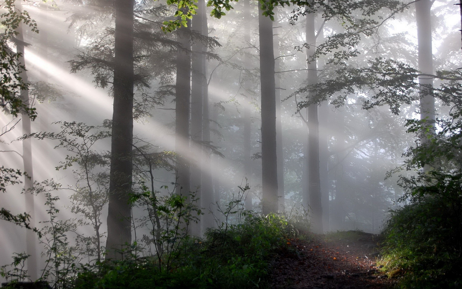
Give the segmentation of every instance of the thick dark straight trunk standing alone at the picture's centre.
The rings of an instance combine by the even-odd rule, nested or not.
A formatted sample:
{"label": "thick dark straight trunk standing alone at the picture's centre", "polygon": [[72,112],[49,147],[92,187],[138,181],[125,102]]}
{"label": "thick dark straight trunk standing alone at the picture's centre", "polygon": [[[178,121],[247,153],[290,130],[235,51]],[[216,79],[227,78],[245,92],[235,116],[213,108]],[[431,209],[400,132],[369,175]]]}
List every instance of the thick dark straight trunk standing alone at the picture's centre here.
{"label": "thick dark straight trunk standing alone at the picture's centre", "polygon": [[261,13],[261,7],[259,7],[262,213],[267,215],[278,210],[276,86],[274,82],[273,22]]}

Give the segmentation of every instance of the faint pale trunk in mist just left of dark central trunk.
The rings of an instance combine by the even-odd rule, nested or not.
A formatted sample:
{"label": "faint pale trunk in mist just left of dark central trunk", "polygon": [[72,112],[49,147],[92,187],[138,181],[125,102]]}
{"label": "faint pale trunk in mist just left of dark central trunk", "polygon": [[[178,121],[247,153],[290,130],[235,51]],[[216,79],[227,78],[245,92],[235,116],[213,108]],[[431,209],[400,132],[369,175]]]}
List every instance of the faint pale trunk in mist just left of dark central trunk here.
{"label": "faint pale trunk in mist just left of dark central trunk", "polygon": [[[247,47],[250,43],[250,22],[252,20],[250,14],[250,0],[244,0],[244,45]],[[248,66],[250,62],[250,57],[248,53],[244,55],[244,65]],[[245,67],[249,69],[250,67]],[[244,155],[244,176],[247,178],[247,184],[252,186],[252,119],[251,119],[251,95],[250,89],[252,84],[250,83],[250,76],[246,74],[243,81],[244,95],[243,95],[243,118],[244,118],[244,131],[243,131],[243,155]],[[246,210],[252,210],[252,192],[251,190],[247,191],[247,196],[245,197],[244,207]]]}

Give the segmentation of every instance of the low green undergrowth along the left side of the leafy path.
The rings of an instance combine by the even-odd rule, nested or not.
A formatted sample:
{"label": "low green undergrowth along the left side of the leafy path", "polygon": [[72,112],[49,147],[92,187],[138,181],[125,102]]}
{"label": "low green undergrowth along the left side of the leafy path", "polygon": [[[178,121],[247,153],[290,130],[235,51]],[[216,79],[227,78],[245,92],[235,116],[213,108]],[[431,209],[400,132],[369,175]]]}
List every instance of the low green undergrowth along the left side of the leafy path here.
{"label": "low green undergrowth along the left side of the leafy path", "polygon": [[[157,258],[132,256],[122,261],[82,267],[73,288],[174,289],[266,288],[269,260],[288,238],[296,237],[279,215],[244,213],[242,224],[209,229],[204,240],[190,239],[170,270]],[[163,262],[163,260],[161,260]]]}

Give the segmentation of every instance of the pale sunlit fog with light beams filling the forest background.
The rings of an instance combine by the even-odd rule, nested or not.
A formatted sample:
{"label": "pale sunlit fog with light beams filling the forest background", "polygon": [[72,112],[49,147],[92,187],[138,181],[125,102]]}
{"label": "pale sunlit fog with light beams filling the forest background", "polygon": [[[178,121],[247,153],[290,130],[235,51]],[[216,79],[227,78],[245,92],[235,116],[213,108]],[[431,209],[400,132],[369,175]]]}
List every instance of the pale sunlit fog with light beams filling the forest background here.
{"label": "pale sunlit fog with light beams filling the forest background", "polygon": [[[89,201],[78,203],[75,194],[84,196],[93,190],[92,196],[99,196],[93,201],[101,203],[96,223],[101,236],[99,249],[104,249],[111,234],[106,221],[112,202],[108,199],[109,191],[127,187],[125,181],[120,181],[117,187],[116,181],[127,175],[122,173],[117,177],[111,171],[126,166],[123,161],[127,160],[122,153],[118,153],[119,157],[110,155],[110,132],[116,125],[116,121],[111,121],[113,113],[119,110],[114,98],[130,94],[129,90],[121,92],[125,89],[122,86],[130,86],[127,77],[124,78],[130,69],[125,66],[123,55],[117,58],[117,51],[123,49],[115,49],[117,37],[127,37],[128,32],[120,32],[122,36],[118,36],[123,21],[116,24],[118,14],[106,4],[97,0],[23,2],[23,11],[29,12],[39,31],[35,33],[28,25],[22,25],[23,64],[30,83],[30,102],[37,111],[30,130],[35,135],[28,138],[33,180],[37,183],[33,210],[31,198],[26,201],[30,193],[22,192],[24,176],[18,179],[23,183],[7,185],[0,194],[2,208],[14,215],[30,213],[31,224],[39,229],[49,226],[44,221],[53,215],[47,213],[50,207],[45,204],[45,193],[59,197],[55,201],[59,209],[54,213],[56,220],[70,220],[70,224],[77,225],[75,228],[69,225],[69,246],[91,246],[93,250],[96,243],[90,239],[95,236],[92,225],[95,220],[89,220],[86,211],[76,207],[83,208]],[[416,18],[421,16],[416,14],[414,4],[396,13],[381,8],[368,16],[359,9],[353,10],[351,22],[341,15],[327,15],[320,7],[294,18],[297,6],[277,6],[273,35],[265,36],[272,39],[271,48],[266,44],[261,46],[262,21],[269,18],[260,19],[259,29],[255,1],[232,2],[233,9],[226,11],[226,15],[213,18],[209,16],[211,7],[205,8],[200,0],[198,14],[193,15],[188,28],[164,33],[163,21],[173,19],[176,11],[175,7],[165,5],[164,1],[134,3],[133,55],[127,56],[134,63],[134,72],[128,77],[134,89],[133,116],[129,117],[133,121],[133,146],[128,145],[132,154],[128,163],[133,165],[128,173],[130,190],[156,191],[159,197],[195,192],[199,198],[196,204],[203,208],[204,214],[197,217],[197,224],[191,223],[188,234],[199,237],[208,227],[219,226],[226,219],[220,210],[236,198],[242,200],[238,209],[252,210],[255,214],[306,212],[315,233],[337,230],[380,233],[389,210],[406,203],[406,200],[398,202],[403,195],[403,188],[398,185],[400,176],[415,174],[415,170],[406,170],[404,166],[407,150],[419,140],[418,134],[407,132],[407,120],[434,121],[435,117],[448,117],[450,106],[432,96],[422,96],[425,92],[419,92],[418,83],[422,80],[418,76],[397,80],[402,86],[393,86],[380,82],[394,77],[386,74],[391,70],[377,72],[374,80],[367,73],[381,67],[374,67],[372,62],[387,60],[428,75],[460,68],[458,8],[450,1],[436,0],[431,5],[431,16],[425,19],[431,24],[425,40],[430,47],[430,64],[422,64],[425,60],[419,49],[424,40],[418,37],[424,32],[417,33]],[[3,13],[6,8],[2,6]],[[206,12],[202,13],[204,8]],[[365,24],[360,19],[373,20],[375,24]],[[359,37],[352,34],[348,36],[351,38],[343,38],[341,44],[334,42],[336,36],[346,32]],[[17,51],[21,42],[10,41],[7,45]],[[274,71],[261,66],[271,63],[268,60],[272,56],[267,54],[270,50]],[[179,61],[185,55],[190,57],[187,68],[180,67]],[[122,59],[120,63],[118,59]],[[367,67],[369,71],[358,75],[348,70]],[[391,67],[399,70],[397,64]],[[186,74],[191,74],[190,79],[179,77],[178,72],[184,75],[185,69]],[[117,72],[122,76],[115,76]],[[264,76],[272,72],[269,79],[273,80],[273,87],[268,85],[271,82],[268,76]],[[348,83],[346,79],[350,76],[350,80],[356,77],[355,83],[353,80]],[[116,80],[123,82],[122,90],[117,88]],[[427,77],[426,81],[438,87],[444,80]],[[179,87],[184,85],[190,93],[183,95],[180,103],[179,94],[183,92]],[[423,82],[420,85],[425,86]],[[273,102],[268,90],[274,94]],[[184,99],[187,99],[187,116],[182,115],[181,123],[177,114]],[[430,106],[425,106],[425,101]],[[268,112],[270,104],[274,108]],[[21,136],[27,133],[22,128],[23,121],[29,118],[25,114],[13,117],[4,108],[0,115],[4,132],[0,142],[1,166],[27,171],[23,164],[27,157],[23,152],[25,140]],[[64,131],[65,122],[77,123],[61,135],[67,134],[67,140],[75,142],[73,145],[56,137]],[[85,125],[94,128],[72,135]],[[434,128],[437,132],[439,129],[438,125]],[[186,132],[182,134],[180,130]],[[97,135],[98,132],[107,134]],[[117,139],[114,135],[112,148],[117,141],[123,142],[121,136]],[[82,162],[77,151],[90,155],[89,162]],[[122,162],[115,165],[117,159]],[[83,163],[88,166],[85,168]],[[109,173],[114,178],[111,184]],[[45,180],[60,185],[54,189],[38,185]],[[244,189],[246,185],[248,190]],[[180,188],[189,189],[185,192]],[[155,242],[148,241],[153,238],[154,223],[151,226],[149,210],[141,200],[129,205],[131,238],[120,238],[155,251]],[[39,241],[34,233],[27,237],[33,238],[35,248],[32,248],[26,245],[26,232],[30,230],[4,220],[0,220],[0,228],[0,264],[11,263],[14,252],[35,250],[36,256],[43,252],[36,261],[35,274],[40,277],[48,258],[49,241],[45,237]],[[74,255],[76,259],[84,258]],[[91,262],[96,253],[85,258],[82,262]]]}

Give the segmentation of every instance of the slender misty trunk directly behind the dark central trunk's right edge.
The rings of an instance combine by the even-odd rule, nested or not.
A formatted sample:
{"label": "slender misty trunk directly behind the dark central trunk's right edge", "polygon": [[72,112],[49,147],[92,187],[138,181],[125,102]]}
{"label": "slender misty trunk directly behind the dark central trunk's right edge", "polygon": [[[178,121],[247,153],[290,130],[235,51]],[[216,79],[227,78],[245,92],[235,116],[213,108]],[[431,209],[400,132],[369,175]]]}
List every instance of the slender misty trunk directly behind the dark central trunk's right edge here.
{"label": "slender misty trunk directly behind the dark central trunk's right edge", "polygon": [[[276,9],[275,9],[276,10]],[[276,15],[275,15],[276,16]],[[273,24],[277,26],[278,22],[276,17],[274,17]],[[274,28],[274,70],[280,71],[280,51],[279,51],[279,34],[278,28]],[[279,58],[277,58],[279,57]],[[275,75],[274,77],[275,83],[275,96],[276,96],[276,158],[277,158],[277,166],[278,166],[278,209],[283,211],[285,208],[284,202],[284,148],[282,146],[282,119],[281,119],[281,83],[279,75]]]}

